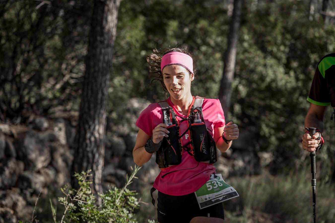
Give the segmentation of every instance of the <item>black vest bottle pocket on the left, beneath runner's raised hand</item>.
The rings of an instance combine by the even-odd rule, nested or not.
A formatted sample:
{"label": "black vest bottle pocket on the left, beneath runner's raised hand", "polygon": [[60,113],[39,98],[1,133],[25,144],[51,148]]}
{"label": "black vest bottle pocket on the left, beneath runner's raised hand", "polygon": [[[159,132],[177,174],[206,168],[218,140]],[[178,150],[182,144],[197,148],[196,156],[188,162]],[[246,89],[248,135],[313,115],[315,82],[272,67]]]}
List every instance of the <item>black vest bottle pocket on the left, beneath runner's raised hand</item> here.
{"label": "black vest bottle pocket on the left, beneath runner's raised hand", "polygon": [[179,148],[179,129],[176,125],[171,125],[167,129],[170,131],[167,134],[169,137],[163,138],[162,145],[156,153],[156,163],[159,168],[177,165],[182,161],[182,153]]}

